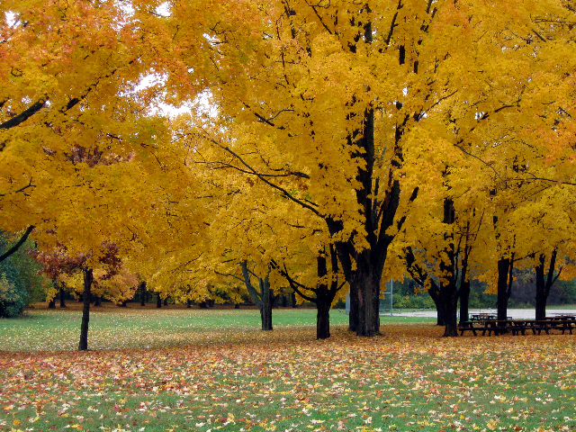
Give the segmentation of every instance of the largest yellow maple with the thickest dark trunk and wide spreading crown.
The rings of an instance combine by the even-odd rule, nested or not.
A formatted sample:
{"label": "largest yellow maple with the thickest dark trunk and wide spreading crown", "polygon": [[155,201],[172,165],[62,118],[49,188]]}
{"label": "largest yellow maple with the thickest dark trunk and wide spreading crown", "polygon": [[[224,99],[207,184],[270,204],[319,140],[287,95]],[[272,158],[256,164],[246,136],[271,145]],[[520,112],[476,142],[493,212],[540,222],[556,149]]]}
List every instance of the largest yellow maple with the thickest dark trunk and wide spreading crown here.
{"label": "largest yellow maple with the thickest dark trunk and wide spreading crown", "polygon": [[[219,116],[197,125],[194,145],[323,223],[350,285],[350,329],[373,336],[389,247],[428,175],[415,175],[419,161],[449,147],[480,157],[476,148],[546,111],[536,63],[560,53],[546,57],[537,35],[571,14],[553,3],[498,16],[464,2],[230,3],[241,22],[207,18]],[[193,54],[187,6],[174,2],[166,18],[182,31],[183,58]]]}

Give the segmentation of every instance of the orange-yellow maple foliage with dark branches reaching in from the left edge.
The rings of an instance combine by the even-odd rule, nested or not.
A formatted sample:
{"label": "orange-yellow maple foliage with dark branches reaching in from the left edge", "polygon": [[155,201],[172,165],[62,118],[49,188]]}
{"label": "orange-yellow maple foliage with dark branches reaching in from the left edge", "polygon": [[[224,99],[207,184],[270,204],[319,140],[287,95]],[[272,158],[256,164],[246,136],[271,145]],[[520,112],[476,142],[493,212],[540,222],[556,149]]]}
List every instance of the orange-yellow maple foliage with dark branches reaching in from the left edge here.
{"label": "orange-yellow maple foliage with dark branches reaching in from the left edge", "polygon": [[[108,215],[109,225],[134,229],[130,218],[142,211],[135,202],[151,199],[136,198],[138,189],[125,179],[151,179],[166,171],[162,164],[169,160],[156,148],[166,132],[164,120],[149,115],[158,85],[142,85],[159,67],[154,50],[166,46],[155,31],[156,18],[148,18],[157,4],[31,0],[0,7],[3,229],[36,226],[41,238],[59,219],[61,239],[100,245],[108,239],[98,236],[105,229],[76,235],[65,232],[63,222],[78,215],[81,227],[86,214],[103,211],[106,204],[94,202],[104,190],[115,191],[115,201],[125,206],[123,218],[121,212]],[[176,190],[165,182],[163,191],[170,185]],[[89,249],[85,244],[77,252]]]}

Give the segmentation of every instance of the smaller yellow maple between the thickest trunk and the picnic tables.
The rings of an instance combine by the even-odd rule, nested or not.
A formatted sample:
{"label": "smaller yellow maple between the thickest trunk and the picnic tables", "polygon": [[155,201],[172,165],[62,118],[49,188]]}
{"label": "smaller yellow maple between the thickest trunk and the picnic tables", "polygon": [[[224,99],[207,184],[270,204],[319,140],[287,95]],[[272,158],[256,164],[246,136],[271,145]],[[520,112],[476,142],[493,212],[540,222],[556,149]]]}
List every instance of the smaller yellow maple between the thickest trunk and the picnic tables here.
{"label": "smaller yellow maple between the thickest trunk and the picnic tables", "polygon": [[[455,178],[463,174],[464,165],[459,168],[453,173]],[[439,174],[438,179],[446,184],[447,176]],[[473,195],[457,193],[453,201],[451,193],[455,190],[432,182],[423,185],[401,235],[392,245],[400,258],[396,266],[405,266],[435,302],[437,323],[445,326],[446,337],[457,336],[458,302],[460,320],[468,320],[472,275],[484,271],[484,261],[491,259],[482,251],[487,234],[484,210],[470,208]]]}

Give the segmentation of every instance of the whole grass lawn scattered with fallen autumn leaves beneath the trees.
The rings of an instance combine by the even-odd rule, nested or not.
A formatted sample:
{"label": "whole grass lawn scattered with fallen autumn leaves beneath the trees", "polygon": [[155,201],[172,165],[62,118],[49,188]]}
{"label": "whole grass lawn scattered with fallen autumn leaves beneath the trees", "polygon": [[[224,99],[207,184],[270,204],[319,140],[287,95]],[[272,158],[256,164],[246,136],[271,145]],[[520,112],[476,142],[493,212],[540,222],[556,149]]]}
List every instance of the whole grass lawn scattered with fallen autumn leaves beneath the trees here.
{"label": "whole grass lawn scattered with fallen autumn leaves beneath the trees", "polygon": [[[0,430],[576,430],[576,335],[440,338],[383,317],[356,338],[332,311],[104,308],[0,320]],[[41,351],[47,350],[47,351]]]}

